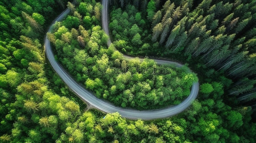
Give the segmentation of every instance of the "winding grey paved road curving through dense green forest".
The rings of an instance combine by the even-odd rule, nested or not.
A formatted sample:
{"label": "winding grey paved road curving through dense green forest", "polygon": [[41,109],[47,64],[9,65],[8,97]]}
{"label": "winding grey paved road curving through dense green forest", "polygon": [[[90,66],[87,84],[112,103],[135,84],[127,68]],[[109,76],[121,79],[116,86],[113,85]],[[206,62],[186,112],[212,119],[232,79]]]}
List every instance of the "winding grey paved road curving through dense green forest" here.
{"label": "winding grey paved road curving through dense green forest", "polygon": [[[103,9],[102,9],[102,27],[103,30],[106,32],[106,34],[109,35],[109,29],[108,29],[108,0],[102,1]],[[69,14],[70,10],[66,9],[63,11],[51,24],[48,32],[51,31],[52,25],[56,21],[61,21],[63,18],[65,18]],[[111,44],[111,40],[108,39],[108,46]],[[46,56],[54,68],[54,70],[57,72],[57,74],[61,77],[61,79],[67,84],[67,86],[77,94],[78,97],[80,97],[82,100],[86,101],[90,106],[93,106],[93,108],[99,109],[106,113],[114,113],[119,112],[122,117],[129,118],[129,119],[142,119],[142,120],[151,120],[156,118],[165,118],[169,116],[176,115],[182,111],[184,111],[188,106],[192,103],[194,99],[196,99],[199,89],[199,83],[194,82],[193,86],[190,91],[190,95],[180,104],[171,106],[164,109],[157,109],[157,110],[132,110],[132,109],[125,109],[121,107],[114,106],[113,104],[106,102],[102,99],[99,99],[94,96],[93,93],[89,92],[88,90],[84,89],[81,85],[79,85],[68,73],[65,69],[63,69],[59,63],[55,61],[54,54],[52,53],[51,44],[50,41],[45,37],[45,52]],[[127,59],[131,59],[134,57],[124,55]],[[154,59],[154,61],[157,64],[174,64],[177,67],[183,66],[182,64],[172,62],[172,61],[166,61],[166,60],[160,60],[160,59]]]}

